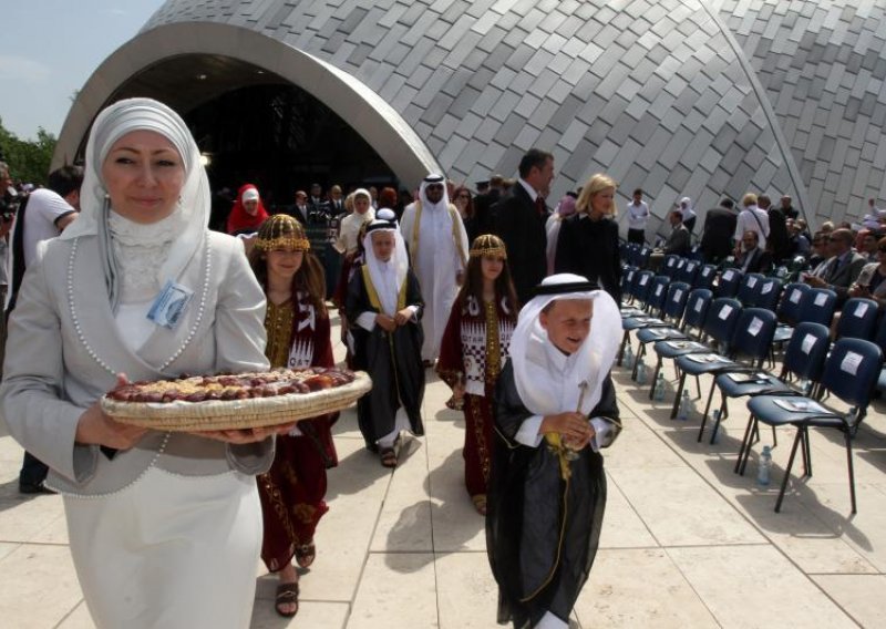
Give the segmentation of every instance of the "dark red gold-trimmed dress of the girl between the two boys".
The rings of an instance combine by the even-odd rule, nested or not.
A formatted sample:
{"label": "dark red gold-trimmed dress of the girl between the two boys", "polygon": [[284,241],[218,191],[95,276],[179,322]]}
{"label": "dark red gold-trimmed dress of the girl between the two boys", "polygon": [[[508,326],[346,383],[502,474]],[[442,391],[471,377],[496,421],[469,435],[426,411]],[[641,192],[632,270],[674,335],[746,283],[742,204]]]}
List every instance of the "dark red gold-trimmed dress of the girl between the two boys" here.
{"label": "dark red gold-trimmed dress of the girl between the two boys", "polygon": [[493,392],[507,360],[517,313],[506,299],[494,303],[468,297],[452,307],[440,347],[437,373],[454,386],[460,380],[464,396],[464,476],[467,493],[485,496],[493,447]]}

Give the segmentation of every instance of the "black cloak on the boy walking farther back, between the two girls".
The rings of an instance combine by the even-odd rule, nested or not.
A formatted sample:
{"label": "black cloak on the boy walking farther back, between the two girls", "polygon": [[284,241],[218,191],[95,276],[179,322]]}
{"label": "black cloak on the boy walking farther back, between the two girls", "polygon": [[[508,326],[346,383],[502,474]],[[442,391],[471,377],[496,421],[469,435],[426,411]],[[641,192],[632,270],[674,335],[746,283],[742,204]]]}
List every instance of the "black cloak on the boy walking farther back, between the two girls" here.
{"label": "black cloak on the boy walking farther back, between the two girls", "polygon": [[[422,364],[421,318],[424,313],[419,280],[412,270],[406,271],[405,305],[418,306],[418,321],[385,332],[375,326],[371,332],[357,324],[361,312],[379,312],[369,298],[363,274],[358,270],[348,285],[346,312],[353,336],[353,367],[372,378],[372,391],[357,402],[360,432],[371,451],[375,442],[394,430],[394,413],[402,402],[413,434],[423,435],[421,408],[424,399],[424,365]],[[398,401],[399,399],[399,401]]]}

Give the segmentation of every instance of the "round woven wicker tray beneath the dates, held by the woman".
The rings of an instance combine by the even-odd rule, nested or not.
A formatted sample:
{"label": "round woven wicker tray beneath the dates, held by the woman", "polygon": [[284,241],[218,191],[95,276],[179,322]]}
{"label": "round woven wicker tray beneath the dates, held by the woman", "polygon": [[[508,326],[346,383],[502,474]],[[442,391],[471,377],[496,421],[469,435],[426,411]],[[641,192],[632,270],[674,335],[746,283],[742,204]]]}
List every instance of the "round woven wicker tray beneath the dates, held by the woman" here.
{"label": "round woven wicker tray beneath the dates, held by the woman", "polygon": [[346,409],[372,389],[363,371],[353,382],[311,393],[206,402],[119,402],[102,398],[102,411],[115,421],[158,431],[194,432],[288,424]]}

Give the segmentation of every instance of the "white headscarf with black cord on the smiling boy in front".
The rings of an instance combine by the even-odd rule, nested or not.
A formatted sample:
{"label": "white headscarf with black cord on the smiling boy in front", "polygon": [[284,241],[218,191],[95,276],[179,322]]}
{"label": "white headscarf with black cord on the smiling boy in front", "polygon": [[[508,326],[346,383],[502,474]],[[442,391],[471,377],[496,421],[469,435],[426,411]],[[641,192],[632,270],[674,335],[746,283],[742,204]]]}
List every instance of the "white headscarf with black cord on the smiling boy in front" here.
{"label": "white headscarf with black cord on the smiling boy in front", "polygon": [[[587,290],[588,280],[573,274],[559,274],[545,278],[542,287],[550,287],[554,295],[539,295],[529,300],[519,311],[517,328],[511,337],[511,362],[517,393],[526,408],[536,415],[549,415],[575,411],[581,399],[581,412],[586,415],[600,400],[602,382],[609,374],[618,353],[621,339],[621,316],[615,300],[604,290]],[[577,286],[576,286],[577,285]],[[585,286],[581,286],[585,285]],[[563,290],[557,290],[557,286]],[[552,382],[555,378],[548,363],[547,348],[550,346],[547,331],[542,328],[539,314],[552,301],[558,299],[587,299],[594,302],[590,332],[578,351],[569,357],[571,368],[566,382]],[[584,398],[579,395],[579,383],[587,382]],[[565,399],[559,392],[565,392]]]}

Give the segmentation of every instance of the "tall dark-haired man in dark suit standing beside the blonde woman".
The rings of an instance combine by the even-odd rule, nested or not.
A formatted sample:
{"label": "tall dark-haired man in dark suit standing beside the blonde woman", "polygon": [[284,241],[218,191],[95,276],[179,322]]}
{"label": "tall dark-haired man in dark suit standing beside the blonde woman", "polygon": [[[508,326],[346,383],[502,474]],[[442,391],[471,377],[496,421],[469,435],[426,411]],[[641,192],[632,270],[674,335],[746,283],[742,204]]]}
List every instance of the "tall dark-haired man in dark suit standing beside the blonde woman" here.
{"label": "tall dark-haired man in dark suit standing beside the blonde woman", "polygon": [[542,193],[554,179],[554,155],[530,148],[519,161],[519,178],[507,196],[492,206],[494,233],[505,241],[507,264],[521,303],[547,271],[547,206]]}

